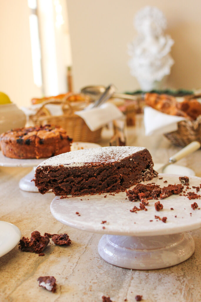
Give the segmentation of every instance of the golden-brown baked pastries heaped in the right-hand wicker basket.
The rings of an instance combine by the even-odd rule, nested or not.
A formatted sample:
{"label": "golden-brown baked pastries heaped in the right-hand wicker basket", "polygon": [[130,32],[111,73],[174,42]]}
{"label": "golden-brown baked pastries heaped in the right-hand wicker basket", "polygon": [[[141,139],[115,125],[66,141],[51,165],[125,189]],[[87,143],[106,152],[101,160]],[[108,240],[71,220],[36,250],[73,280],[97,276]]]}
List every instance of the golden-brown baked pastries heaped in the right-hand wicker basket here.
{"label": "golden-brown baked pastries heaped in the right-hand wicker basket", "polygon": [[196,120],[201,114],[201,103],[196,96],[179,99],[166,94],[146,93],[144,98],[146,105],[166,114],[183,116],[190,120]]}

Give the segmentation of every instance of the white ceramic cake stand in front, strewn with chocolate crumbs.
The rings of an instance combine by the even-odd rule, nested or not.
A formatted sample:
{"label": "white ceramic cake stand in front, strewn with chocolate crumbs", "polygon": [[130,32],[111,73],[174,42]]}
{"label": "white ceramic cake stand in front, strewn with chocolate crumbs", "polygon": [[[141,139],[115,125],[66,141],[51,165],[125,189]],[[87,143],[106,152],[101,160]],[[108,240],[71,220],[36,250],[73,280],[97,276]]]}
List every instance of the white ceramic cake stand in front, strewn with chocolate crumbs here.
{"label": "white ceramic cake stand in front, strewn with chocolate crumbs", "polygon": [[[163,179],[160,180],[160,177]],[[168,182],[164,183],[165,180]],[[159,174],[157,178],[144,183],[150,182],[161,187],[180,183],[179,175],[170,174]],[[187,192],[195,191],[192,186],[199,186],[200,183],[201,178],[190,177],[191,189]],[[134,206],[139,208],[140,202],[125,198],[125,192],[115,196],[107,193],[65,199],[55,197],[50,210],[61,223],[104,234],[99,241],[98,251],[104,260],[113,265],[131,269],[158,269],[176,265],[193,254],[193,238],[184,232],[201,227],[201,210],[198,210],[201,208],[200,199],[189,200],[184,196],[172,195],[161,200],[161,211],[155,210],[156,200],[150,200],[146,206],[148,210],[136,214],[130,210]],[[193,210],[191,204],[195,201],[198,208]],[[167,217],[167,222],[155,219],[155,215]],[[106,223],[102,223],[105,220]]]}

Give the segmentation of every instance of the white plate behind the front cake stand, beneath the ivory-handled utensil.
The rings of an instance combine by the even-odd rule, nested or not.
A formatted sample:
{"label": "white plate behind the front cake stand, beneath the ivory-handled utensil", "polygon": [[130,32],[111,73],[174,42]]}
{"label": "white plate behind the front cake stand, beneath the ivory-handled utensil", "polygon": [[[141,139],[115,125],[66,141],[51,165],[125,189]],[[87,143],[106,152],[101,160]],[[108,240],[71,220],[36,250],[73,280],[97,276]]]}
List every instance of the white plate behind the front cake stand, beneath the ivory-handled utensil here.
{"label": "white plate behind the front cake stand, beneath the ivory-handled utensil", "polygon": [[[156,163],[154,164],[154,169],[157,171],[160,167],[162,167],[162,163]],[[187,168],[185,166],[180,166],[176,164],[171,164],[165,167],[163,173],[166,174],[177,174],[177,175],[186,175],[186,176],[195,176],[195,172]]]}

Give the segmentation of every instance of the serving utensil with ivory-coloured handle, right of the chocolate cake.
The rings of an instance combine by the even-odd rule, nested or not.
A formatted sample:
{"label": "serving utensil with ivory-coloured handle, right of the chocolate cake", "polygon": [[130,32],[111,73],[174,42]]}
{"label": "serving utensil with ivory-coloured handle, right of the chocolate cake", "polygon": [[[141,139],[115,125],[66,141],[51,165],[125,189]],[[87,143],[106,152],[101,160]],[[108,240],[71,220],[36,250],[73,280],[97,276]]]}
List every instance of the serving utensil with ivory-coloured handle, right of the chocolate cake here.
{"label": "serving utensil with ivory-coloured handle, right of the chocolate cake", "polygon": [[198,150],[201,147],[201,143],[194,141],[190,144],[188,144],[186,147],[184,147],[183,149],[181,149],[179,152],[177,152],[176,154],[174,154],[173,156],[171,156],[169,158],[169,162],[165,163],[164,165],[162,165],[162,167],[160,167],[159,169],[157,169],[158,173],[163,173],[163,170],[168,166],[171,165],[175,162],[177,162],[179,159],[184,158],[185,156],[187,156],[190,153],[193,153],[194,151]]}

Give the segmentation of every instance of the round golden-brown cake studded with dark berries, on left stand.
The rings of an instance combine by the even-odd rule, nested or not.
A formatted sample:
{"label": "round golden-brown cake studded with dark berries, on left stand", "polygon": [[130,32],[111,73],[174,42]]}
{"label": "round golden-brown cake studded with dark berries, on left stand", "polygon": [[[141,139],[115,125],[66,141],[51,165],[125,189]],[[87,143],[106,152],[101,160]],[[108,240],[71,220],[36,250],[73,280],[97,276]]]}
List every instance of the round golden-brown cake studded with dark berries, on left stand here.
{"label": "round golden-brown cake studded with dark berries, on left stand", "polygon": [[72,139],[58,126],[19,128],[0,135],[5,156],[19,159],[47,158],[69,152]]}

